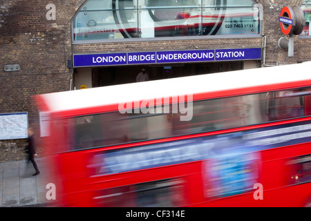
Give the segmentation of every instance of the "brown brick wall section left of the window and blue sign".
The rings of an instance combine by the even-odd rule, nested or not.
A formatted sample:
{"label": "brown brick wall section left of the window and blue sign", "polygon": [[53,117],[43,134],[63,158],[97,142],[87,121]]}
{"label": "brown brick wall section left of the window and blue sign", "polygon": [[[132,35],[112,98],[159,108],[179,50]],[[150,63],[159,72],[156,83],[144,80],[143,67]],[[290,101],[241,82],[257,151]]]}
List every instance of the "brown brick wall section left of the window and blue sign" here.
{"label": "brown brick wall section left of the window and blue sign", "polygon": [[[0,6],[0,113],[28,112],[31,127],[39,117],[32,95],[69,90],[72,70],[70,19],[82,4],[73,1],[4,0]],[[56,6],[56,20],[46,19],[46,5]],[[21,70],[5,72],[6,64]],[[36,131],[37,133],[39,131]],[[36,139],[38,148],[39,139]],[[0,162],[25,158],[25,140],[0,141]]]}

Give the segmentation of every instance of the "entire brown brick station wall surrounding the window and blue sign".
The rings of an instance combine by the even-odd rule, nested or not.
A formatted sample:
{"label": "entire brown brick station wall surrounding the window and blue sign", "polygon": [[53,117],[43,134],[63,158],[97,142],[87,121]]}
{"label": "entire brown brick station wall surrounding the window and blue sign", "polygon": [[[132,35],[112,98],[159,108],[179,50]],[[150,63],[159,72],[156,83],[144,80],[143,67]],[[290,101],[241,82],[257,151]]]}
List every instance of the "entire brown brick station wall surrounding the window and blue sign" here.
{"label": "entire brown brick station wall surrounding the window and blue sign", "polygon": [[[56,6],[56,20],[46,19],[46,5]],[[38,130],[38,113],[31,97],[69,90],[73,70],[66,67],[73,53],[129,52],[135,50],[189,50],[207,48],[263,47],[259,38],[191,39],[171,41],[127,41],[71,45],[70,21],[84,0],[3,0],[0,7],[0,113],[28,112],[29,124]],[[299,1],[258,0],[263,5],[263,35],[266,36],[267,64],[292,64],[311,60],[309,39],[295,38],[294,57],[278,48],[283,37],[278,17],[283,6],[301,6]],[[6,64],[21,70],[5,72]],[[36,131],[37,134],[39,131]],[[36,139],[38,147],[40,140]],[[25,140],[0,141],[0,162],[21,160]]]}

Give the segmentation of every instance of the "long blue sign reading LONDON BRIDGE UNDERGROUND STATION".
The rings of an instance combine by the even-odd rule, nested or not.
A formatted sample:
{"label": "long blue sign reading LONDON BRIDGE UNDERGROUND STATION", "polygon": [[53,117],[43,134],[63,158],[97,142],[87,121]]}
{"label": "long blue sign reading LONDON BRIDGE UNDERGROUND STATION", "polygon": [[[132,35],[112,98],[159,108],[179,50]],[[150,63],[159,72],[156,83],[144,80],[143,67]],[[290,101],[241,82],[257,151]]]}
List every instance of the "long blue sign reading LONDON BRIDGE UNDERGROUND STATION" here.
{"label": "long blue sign reading LONDON BRIDGE UNDERGROUND STATION", "polygon": [[119,66],[261,59],[261,48],[177,50],[73,55],[73,66]]}

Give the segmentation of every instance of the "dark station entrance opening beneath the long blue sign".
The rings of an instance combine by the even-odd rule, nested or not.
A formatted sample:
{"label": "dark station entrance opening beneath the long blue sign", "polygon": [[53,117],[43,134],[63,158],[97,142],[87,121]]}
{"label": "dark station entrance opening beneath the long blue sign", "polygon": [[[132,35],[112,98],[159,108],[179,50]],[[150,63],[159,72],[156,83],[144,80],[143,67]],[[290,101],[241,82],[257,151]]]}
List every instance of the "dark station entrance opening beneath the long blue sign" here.
{"label": "dark station entrance opening beneath the long blue sign", "polygon": [[136,82],[137,75],[146,69],[149,80],[169,79],[231,70],[256,68],[256,61],[227,61],[189,64],[166,64],[152,66],[107,66],[75,68],[73,82],[75,90],[128,84]]}

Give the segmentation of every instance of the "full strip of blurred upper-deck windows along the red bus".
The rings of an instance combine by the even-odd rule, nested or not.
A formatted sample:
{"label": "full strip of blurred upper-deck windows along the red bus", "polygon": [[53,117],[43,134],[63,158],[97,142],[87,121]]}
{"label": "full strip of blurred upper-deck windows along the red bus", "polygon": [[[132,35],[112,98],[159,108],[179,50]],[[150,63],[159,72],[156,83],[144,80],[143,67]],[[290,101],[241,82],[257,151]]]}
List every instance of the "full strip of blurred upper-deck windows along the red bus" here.
{"label": "full strip of blurred upper-deck windows along the red bus", "polygon": [[64,120],[63,129],[57,126],[64,130],[70,150],[112,146],[307,116],[310,94],[310,88],[301,88],[207,99],[156,106],[147,112],[138,108],[86,115]]}

